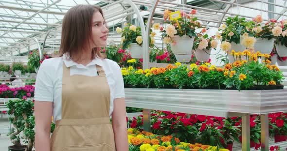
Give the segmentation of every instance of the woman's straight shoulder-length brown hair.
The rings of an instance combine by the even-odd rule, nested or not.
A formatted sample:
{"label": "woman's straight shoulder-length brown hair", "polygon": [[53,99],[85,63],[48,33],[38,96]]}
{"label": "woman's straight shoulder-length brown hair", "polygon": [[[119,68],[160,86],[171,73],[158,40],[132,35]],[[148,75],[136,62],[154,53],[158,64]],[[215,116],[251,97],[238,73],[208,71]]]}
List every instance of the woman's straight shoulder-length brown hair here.
{"label": "woman's straight shoulder-length brown hair", "polygon": [[[92,38],[91,22],[95,12],[100,12],[104,18],[102,9],[95,5],[77,5],[66,13],[58,57],[68,53],[69,60],[78,61],[85,58],[83,55],[86,54],[84,51],[88,51]],[[97,47],[91,50],[91,60],[96,57],[105,59]]]}

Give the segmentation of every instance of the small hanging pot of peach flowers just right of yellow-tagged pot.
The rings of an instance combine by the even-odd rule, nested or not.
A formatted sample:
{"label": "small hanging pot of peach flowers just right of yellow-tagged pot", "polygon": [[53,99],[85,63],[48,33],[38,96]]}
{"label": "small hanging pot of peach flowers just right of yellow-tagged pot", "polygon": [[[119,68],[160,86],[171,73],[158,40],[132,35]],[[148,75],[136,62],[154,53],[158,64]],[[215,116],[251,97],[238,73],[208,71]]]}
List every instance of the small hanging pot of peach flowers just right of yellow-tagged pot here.
{"label": "small hanging pot of peach flowers just right of yellow-tagged pot", "polygon": [[208,34],[205,34],[206,29],[203,28],[201,33],[197,34],[195,38],[193,49],[198,61],[207,61],[210,58],[212,48],[215,49],[218,45],[218,41],[215,40],[215,37],[208,37]]}

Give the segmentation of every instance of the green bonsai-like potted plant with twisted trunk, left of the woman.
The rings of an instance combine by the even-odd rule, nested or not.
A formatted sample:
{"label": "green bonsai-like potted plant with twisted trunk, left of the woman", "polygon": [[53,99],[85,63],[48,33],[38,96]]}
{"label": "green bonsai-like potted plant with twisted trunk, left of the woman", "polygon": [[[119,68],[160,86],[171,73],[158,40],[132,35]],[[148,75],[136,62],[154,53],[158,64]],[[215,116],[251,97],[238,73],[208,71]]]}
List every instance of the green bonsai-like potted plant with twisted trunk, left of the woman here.
{"label": "green bonsai-like potted plant with twisted trunk, left of the woman", "polygon": [[[34,103],[31,100],[17,99],[10,100],[7,104],[8,114],[13,115],[9,118],[13,124],[10,136],[13,146],[9,146],[10,151],[32,151],[35,140],[35,120],[33,116]],[[21,132],[23,131],[23,134]],[[26,139],[25,143],[28,145],[22,145],[20,139]]]}

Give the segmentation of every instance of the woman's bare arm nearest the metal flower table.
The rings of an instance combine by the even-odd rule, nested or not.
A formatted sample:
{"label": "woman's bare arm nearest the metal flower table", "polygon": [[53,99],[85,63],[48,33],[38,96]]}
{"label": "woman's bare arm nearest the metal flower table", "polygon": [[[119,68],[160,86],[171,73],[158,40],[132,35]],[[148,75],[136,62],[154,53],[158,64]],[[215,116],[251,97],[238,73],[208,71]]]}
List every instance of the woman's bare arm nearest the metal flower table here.
{"label": "woman's bare arm nearest the metal flower table", "polygon": [[128,151],[125,98],[114,99],[112,127],[115,135],[116,151]]}

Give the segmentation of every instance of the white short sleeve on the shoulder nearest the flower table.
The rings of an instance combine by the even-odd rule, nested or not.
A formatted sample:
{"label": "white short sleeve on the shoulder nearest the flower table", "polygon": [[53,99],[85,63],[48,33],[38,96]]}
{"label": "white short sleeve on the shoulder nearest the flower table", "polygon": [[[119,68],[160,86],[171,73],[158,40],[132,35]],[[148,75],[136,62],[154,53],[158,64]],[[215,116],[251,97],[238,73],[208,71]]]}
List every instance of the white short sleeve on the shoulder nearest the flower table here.
{"label": "white short sleeve on the shoulder nearest the flower table", "polygon": [[116,98],[125,98],[125,88],[124,88],[124,80],[121,72],[120,66],[114,62],[114,80],[115,80],[115,88],[114,88],[114,99]]}

